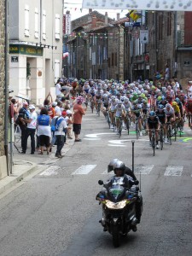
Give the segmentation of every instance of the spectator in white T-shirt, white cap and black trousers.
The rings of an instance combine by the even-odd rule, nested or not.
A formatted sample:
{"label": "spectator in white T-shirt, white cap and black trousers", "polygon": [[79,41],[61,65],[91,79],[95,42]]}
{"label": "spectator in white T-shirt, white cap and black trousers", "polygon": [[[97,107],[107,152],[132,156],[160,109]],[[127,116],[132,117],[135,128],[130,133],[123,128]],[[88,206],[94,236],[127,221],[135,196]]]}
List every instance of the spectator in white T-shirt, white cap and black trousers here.
{"label": "spectator in white T-shirt, white cap and black trousers", "polygon": [[26,127],[26,139],[25,139],[25,143],[26,143],[25,152],[27,147],[27,139],[30,136],[31,137],[31,154],[34,154],[35,153],[35,131],[36,131],[38,115],[35,111],[34,105],[30,105],[29,110],[30,110],[29,119],[26,120],[27,127]]}

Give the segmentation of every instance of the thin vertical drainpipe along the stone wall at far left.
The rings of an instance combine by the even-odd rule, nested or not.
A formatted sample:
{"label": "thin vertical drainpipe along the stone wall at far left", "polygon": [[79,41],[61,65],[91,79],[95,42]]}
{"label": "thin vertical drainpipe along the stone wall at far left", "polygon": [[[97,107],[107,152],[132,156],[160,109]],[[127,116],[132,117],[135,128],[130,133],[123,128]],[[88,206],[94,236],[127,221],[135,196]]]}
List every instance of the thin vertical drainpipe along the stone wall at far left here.
{"label": "thin vertical drainpipe along the stone wall at far left", "polygon": [[5,0],[5,47],[4,47],[4,68],[5,68],[5,84],[4,84],[4,95],[5,95],[5,117],[4,117],[4,151],[7,160],[7,172],[9,175],[9,154],[8,154],[8,121],[9,121],[9,79],[8,79],[8,65],[9,65],[9,39],[8,39],[8,1]]}

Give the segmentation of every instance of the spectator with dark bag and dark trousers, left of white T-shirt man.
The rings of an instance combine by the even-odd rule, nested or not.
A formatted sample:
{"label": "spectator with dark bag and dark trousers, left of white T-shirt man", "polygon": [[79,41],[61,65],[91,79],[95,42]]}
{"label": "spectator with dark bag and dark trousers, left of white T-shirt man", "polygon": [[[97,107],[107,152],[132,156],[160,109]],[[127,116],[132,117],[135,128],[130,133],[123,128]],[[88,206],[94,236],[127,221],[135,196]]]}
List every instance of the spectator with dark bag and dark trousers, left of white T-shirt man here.
{"label": "spectator with dark bag and dark trousers, left of white T-shirt man", "polygon": [[18,118],[16,119],[16,123],[20,125],[21,131],[21,154],[26,154],[26,121],[29,119],[28,106],[27,102],[22,103],[22,108],[20,108]]}

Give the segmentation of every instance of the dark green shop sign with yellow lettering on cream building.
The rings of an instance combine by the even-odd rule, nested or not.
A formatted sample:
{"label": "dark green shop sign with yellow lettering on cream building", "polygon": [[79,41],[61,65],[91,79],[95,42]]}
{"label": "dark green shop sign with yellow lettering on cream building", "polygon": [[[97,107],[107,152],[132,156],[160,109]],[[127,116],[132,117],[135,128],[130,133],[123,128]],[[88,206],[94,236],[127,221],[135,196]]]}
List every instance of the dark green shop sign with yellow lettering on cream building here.
{"label": "dark green shop sign with yellow lettering on cream building", "polygon": [[26,44],[10,44],[9,54],[43,56],[43,49]]}

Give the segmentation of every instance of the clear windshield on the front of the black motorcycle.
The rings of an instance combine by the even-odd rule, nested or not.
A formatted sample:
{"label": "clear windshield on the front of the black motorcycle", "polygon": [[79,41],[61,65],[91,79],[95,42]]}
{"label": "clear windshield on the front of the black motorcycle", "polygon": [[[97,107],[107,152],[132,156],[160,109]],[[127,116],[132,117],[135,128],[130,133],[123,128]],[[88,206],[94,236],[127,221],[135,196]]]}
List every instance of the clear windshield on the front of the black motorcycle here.
{"label": "clear windshield on the front of the black motorcycle", "polygon": [[125,188],[122,186],[124,184],[124,177],[114,177],[112,186],[109,188],[109,194],[111,197],[117,201],[118,198],[123,195]]}

